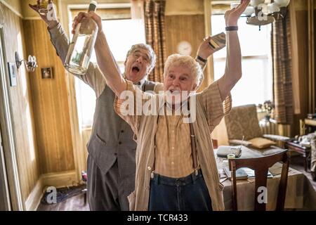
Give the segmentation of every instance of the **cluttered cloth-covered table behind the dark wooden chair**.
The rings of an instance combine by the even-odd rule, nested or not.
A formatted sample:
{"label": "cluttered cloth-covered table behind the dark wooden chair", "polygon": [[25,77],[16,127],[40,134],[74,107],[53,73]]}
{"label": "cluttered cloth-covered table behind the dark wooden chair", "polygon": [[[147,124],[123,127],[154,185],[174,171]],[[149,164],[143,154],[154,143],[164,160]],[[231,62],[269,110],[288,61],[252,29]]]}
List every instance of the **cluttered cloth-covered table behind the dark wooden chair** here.
{"label": "cluttered cloth-covered table behind the dark wooden chair", "polygon": [[[220,148],[220,146],[219,146]],[[263,155],[270,155],[278,153],[280,148],[270,147],[265,150],[256,150],[241,147],[240,158],[256,158]],[[218,157],[217,150],[215,150],[216,162],[218,172],[220,174],[220,182],[224,185],[223,197],[225,203],[225,210],[232,210],[232,181],[230,180],[228,172],[227,158]],[[276,163],[269,168],[268,183],[267,183],[267,206],[266,210],[274,210],[277,200],[277,190],[279,186],[279,178],[282,171],[282,164]],[[254,178],[251,175],[253,171],[246,169],[241,172],[237,180],[237,199],[238,210],[254,210]],[[287,179],[287,193],[285,198],[285,209],[291,210],[316,210],[316,192],[308,178],[289,167]]]}

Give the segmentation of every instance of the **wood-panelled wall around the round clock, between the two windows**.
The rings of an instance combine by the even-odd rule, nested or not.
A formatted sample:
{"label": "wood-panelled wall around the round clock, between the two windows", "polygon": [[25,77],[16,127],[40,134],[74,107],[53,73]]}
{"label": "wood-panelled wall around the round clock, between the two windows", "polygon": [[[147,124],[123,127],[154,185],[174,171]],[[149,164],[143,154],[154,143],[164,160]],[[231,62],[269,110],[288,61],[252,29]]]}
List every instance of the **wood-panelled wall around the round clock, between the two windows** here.
{"label": "wood-panelled wall around the round clock, between the two windows", "polygon": [[[166,15],[166,54],[177,52],[180,41],[187,41],[192,46],[191,56],[195,57],[199,44],[205,37],[204,15]],[[206,71],[204,75],[206,76]],[[202,88],[206,86],[206,80]]]}

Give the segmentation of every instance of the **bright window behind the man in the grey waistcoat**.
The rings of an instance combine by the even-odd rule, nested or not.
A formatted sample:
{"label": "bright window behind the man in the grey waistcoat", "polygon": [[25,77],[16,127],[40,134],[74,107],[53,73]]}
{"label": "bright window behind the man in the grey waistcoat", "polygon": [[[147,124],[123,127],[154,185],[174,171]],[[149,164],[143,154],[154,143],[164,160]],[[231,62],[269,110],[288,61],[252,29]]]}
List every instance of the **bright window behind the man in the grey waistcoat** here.
{"label": "bright window behind the man in the grey waistcoat", "polygon": [[[126,53],[133,44],[145,43],[145,29],[138,22],[131,19],[103,20],[103,30],[107,42],[117,64],[124,72]],[[96,54],[91,56],[91,62],[96,63]],[[76,80],[76,96],[79,114],[79,124],[82,129],[90,129],[93,123],[93,115],[96,108],[96,94],[90,86]]]}

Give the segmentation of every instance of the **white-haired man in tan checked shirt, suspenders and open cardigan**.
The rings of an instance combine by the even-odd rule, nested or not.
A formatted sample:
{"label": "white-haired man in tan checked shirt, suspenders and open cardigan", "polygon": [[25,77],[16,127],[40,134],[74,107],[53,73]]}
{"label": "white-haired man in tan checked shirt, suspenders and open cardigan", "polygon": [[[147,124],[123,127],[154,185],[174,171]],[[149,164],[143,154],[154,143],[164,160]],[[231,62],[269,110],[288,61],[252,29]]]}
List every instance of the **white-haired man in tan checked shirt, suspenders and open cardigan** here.
{"label": "white-haired man in tan checked shirt, suspenders and open cardigan", "polygon": [[[95,46],[98,65],[117,96],[115,110],[136,134],[136,183],[135,191],[129,195],[130,210],[224,210],[223,186],[209,134],[230,111],[230,90],[242,77],[237,21],[249,1],[242,0],[239,6],[225,13],[228,37],[225,73],[199,94],[194,91],[199,86],[201,68],[190,56],[179,55],[169,56],[166,61],[165,94],[147,94],[138,89],[117,69],[100,17],[93,12],[83,15],[93,18],[100,28]],[[124,91],[133,93],[136,104],[134,113],[127,115],[121,107],[126,100],[119,98]],[[190,101],[190,109],[195,108],[197,117],[191,124],[181,120],[186,113],[173,115],[178,110],[173,100],[159,104],[162,95],[184,91],[190,92],[188,97],[196,98],[195,104]],[[140,99],[154,100],[159,115],[135,113]],[[188,104],[187,98],[180,101],[181,108]],[[161,113],[168,110],[171,115]],[[190,139],[191,136],[195,139]]]}

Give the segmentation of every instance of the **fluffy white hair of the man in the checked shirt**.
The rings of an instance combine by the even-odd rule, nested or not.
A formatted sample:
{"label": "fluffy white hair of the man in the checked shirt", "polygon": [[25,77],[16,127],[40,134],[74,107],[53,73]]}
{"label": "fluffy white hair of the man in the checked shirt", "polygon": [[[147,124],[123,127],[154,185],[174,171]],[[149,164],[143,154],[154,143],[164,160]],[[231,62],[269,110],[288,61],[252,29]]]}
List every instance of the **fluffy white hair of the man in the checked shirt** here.
{"label": "fluffy white hair of the man in the checked shirt", "polygon": [[[164,65],[164,77],[171,66],[183,66],[191,70],[191,74],[195,77],[195,84],[197,88],[202,84],[204,75],[202,72],[201,65],[191,56],[182,56],[179,54],[173,54],[169,56]],[[196,88],[196,89],[197,89]]]}

